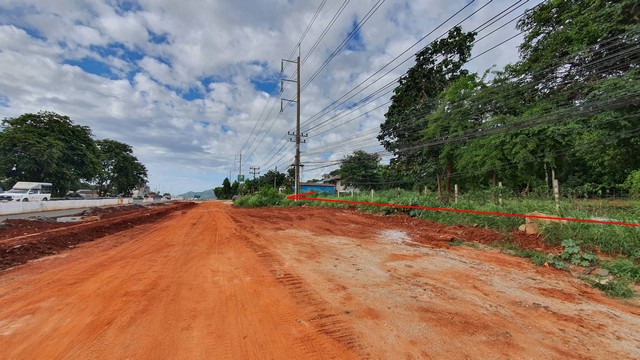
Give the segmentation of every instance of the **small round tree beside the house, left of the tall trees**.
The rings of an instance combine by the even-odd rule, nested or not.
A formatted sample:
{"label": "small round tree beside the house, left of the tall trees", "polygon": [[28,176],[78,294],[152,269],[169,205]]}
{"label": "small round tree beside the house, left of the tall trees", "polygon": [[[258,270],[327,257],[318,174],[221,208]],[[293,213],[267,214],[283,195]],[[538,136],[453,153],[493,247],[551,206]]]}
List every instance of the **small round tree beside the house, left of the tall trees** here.
{"label": "small round tree beside the house, left of the tall trees", "polygon": [[358,150],[340,164],[340,178],[345,185],[361,190],[380,187],[380,155]]}

